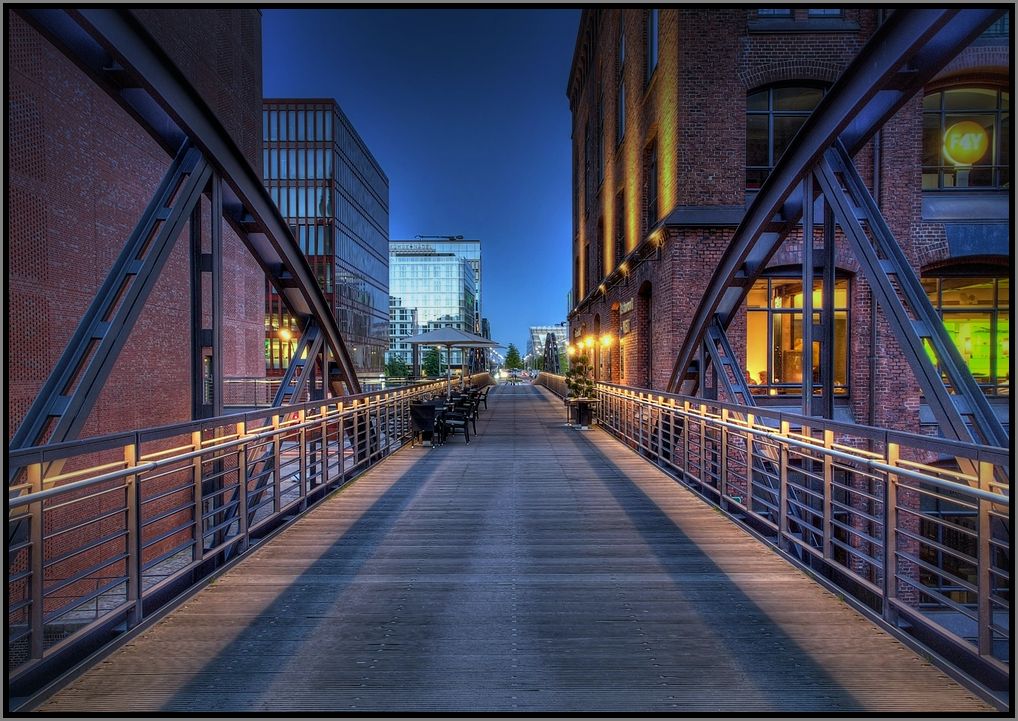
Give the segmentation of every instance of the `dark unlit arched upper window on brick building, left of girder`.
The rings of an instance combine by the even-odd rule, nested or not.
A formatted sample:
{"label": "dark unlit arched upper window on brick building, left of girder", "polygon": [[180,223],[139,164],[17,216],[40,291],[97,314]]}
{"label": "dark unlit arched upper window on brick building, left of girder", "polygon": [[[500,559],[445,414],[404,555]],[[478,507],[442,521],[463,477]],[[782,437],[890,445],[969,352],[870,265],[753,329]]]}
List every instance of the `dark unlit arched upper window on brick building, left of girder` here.
{"label": "dark unlit arched upper window on brick building, left of girder", "polygon": [[764,184],[823,97],[818,84],[773,86],[746,96],[747,188]]}

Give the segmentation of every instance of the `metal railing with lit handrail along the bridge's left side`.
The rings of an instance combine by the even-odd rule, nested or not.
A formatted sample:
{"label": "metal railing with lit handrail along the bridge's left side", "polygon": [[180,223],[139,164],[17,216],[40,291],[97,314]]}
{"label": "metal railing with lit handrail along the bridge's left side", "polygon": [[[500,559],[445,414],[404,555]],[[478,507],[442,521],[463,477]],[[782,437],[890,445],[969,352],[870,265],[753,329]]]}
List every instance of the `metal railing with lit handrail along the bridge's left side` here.
{"label": "metal railing with lit handrail along the bridge's left side", "polygon": [[[491,383],[488,374],[469,380]],[[445,388],[429,382],[10,452],[8,692],[31,690],[40,669],[65,666],[100,634],[136,626],[400,448],[410,401]]]}

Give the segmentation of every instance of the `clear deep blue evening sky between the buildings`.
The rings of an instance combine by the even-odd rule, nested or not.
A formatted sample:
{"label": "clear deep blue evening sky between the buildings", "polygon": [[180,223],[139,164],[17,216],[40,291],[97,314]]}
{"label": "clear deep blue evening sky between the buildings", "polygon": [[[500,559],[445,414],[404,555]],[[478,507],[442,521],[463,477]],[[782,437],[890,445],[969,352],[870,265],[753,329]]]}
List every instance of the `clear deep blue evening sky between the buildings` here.
{"label": "clear deep blue evening sky between the buildings", "polygon": [[[335,98],[389,176],[389,235],[479,238],[492,336],[565,320],[579,10],[265,10],[267,98]],[[503,351],[504,352],[504,351]]]}

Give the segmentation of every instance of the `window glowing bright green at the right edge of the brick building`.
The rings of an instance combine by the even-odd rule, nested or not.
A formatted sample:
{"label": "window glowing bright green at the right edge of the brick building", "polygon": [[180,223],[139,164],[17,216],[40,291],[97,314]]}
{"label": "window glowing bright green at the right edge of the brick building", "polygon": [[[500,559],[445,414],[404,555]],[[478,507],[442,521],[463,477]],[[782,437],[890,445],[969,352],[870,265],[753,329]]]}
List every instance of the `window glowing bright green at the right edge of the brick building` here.
{"label": "window glowing bright green at the right edge of the brick building", "polygon": [[1011,387],[1011,309],[1007,277],[925,277],[929,302],[986,395]]}

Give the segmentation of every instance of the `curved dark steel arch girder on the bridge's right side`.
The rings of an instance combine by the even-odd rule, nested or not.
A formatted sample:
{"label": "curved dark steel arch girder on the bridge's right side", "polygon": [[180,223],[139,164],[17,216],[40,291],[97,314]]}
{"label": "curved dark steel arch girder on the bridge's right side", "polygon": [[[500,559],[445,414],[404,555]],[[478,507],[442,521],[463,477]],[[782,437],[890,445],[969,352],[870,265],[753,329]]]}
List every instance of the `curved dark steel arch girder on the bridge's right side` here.
{"label": "curved dark steel arch girder on the bridge's right side", "polygon": [[[840,143],[849,155],[857,153],[1004,12],[1000,7],[902,7],[876,31],[807,118],[750,204],[691,319],[669,379],[669,391],[695,392],[702,367],[710,360],[702,352],[709,329],[714,323],[722,331],[728,328],[753,282],[798,224],[804,203],[812,203],[812,198],[804,197],[802,181],[811,175],[825,152]],[[909,347],[902,350],[914,353]],[[945,433],[956,437],[953,430],[949,425]]]}

